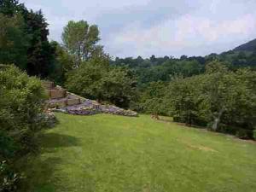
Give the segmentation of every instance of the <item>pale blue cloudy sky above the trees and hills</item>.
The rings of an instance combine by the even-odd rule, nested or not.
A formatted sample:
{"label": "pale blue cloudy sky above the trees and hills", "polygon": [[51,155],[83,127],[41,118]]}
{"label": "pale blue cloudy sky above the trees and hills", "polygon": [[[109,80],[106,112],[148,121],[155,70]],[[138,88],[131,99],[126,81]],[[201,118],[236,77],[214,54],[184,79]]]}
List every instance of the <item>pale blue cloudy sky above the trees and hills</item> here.
{"label": "pale blue cloudy sky above the trees and hills", "polygon": [[256,38],[256,0],[20,0],[42,9],[49,39],[61,43],[68,20],[101,31],[113,57],[209,55]]}

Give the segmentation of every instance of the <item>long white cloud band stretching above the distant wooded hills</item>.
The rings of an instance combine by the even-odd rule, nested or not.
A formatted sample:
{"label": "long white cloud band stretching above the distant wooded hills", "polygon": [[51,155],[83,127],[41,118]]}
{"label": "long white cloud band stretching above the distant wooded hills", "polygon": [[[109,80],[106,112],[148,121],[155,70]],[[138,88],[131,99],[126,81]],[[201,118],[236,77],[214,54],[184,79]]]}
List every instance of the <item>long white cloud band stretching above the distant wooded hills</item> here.
{"label": "long white cloud band stretching above the distant wooded hills", "polygon": [[[228,44],[234,39],[255,34],[256,17],[243,15],[235,20],[210,20],[193,15],[183,15],[177,20],[165,20],[159,25],[143,28],[140,22],[134,22],[118,33],[109,36],[107,48],[113,53],[148,56],[150,54],[183,55],[190,49],[195,53],[198,47],[214,44]],[[126,48],[118,51],[116,48]],[[132,53],[130,52],[132,51]],[[212,50],[208,50],[209,54]],[[128,55],[129,55],[128,54]],[[201,49],[198,49],[201,55]]]}

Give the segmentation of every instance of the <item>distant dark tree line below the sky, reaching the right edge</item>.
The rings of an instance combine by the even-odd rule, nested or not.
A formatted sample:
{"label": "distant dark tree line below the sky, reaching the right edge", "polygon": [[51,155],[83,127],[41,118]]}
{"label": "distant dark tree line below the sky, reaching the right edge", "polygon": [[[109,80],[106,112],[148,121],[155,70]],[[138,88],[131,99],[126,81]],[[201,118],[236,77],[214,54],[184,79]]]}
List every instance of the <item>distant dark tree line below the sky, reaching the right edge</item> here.
{"label": "distant dark tree line below the sky, reaching the right edge", "polygon": [[170,81],[172,77],[182,75],[191,77],[204,73],[206,64],[211,61],[221,61],[231,70],[236,71],[241,67],[256,68],[256,48],[255,51],[227,51],[220,55],[211,54],[205,57],[182,55],[179,59],[172,56],[155,57],[143,59],[117,57],[112,64],[115,66],[126,66],[131,68],[138,77],[138,84],[148,84],[154,81]]}

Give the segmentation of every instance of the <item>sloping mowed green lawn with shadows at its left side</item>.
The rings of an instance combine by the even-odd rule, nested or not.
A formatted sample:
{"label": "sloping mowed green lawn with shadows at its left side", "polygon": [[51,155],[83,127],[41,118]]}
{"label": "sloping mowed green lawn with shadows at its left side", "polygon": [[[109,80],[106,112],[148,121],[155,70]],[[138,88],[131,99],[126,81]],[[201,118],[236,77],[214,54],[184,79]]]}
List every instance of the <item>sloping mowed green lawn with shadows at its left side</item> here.
{"label": "sloping mowed green lawn with shadows at its left side", "polygon": [[256,144],[150,119],[57,113],[27,161],[34,192],[255,192]]}

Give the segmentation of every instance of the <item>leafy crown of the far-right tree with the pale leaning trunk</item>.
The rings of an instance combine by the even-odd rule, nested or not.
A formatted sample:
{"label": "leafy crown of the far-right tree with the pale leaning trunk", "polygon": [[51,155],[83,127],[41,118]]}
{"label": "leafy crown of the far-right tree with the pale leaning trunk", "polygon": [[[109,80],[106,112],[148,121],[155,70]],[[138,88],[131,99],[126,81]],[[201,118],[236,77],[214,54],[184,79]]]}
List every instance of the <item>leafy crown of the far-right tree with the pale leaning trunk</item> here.
{"label": "leafy crown of the far-right tree with the pale leaning trunk", "polygon": [[255,72],[244,69],[236,73],[212,73],[207,77],[204,92],[207,93],[208,110],[213,119],[222,119],[227,125],[253,129],[256,109],[256,92],[253,87],[255,75]]}

